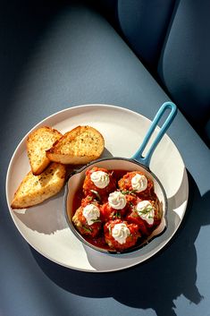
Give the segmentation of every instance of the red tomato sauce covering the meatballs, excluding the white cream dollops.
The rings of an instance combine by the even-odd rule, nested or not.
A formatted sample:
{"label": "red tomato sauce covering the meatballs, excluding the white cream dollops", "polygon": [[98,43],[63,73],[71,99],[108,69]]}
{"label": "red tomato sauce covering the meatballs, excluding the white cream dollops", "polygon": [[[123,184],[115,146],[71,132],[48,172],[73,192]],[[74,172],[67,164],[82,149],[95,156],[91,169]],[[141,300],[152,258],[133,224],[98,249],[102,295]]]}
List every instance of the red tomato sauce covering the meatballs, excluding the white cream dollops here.
{"label": "red tomato sauce covering the meatballs, excluding the white cream dollops", "polygon": [[[154,192],[154,184],[151,179],[147,178],[147,190],[145,192],[133,192],[130,187],[131,175],[135,172],[129,172],[126,170],[106,170],[104,168],[94,168],[94,170],[105,170],[110,175],[110,184],[105,189],[98,189],[90,180],[90,169],[86,172],[86,178],[83,185],[76,192],[72,209],[73,214],[80,208],[85,207],[88,203],[97,201],[100,208],[101,228],[96,236],[81,234],[84,239],[99,248],[106,251],[116,250],[122,252],[130,247],[137,246],[142,243],[148,235],[151,235],[156,226],[160,224],[161,216],[158,209],[158,199]],[[139,173],[136,171],[136,173]],[[143,174],[143,173],[140,173]],[[112,209],[108,205],[108,196],[110,192],[119,191],[126,197],[126,207],[124,209]],[[135,206],[139,200],[152,200],[155,201],[155,218],[154,224],[148,225],[146,220],[142,219],[135,212]],[[114,222],[126,222],[130,227],[130,237],[127,238],[126,243],[120,244],[113,239],[113,236],[109,232]],[[76,227],[77,228],[77,227]],[[111,244],[111,247],[110,247]]]}

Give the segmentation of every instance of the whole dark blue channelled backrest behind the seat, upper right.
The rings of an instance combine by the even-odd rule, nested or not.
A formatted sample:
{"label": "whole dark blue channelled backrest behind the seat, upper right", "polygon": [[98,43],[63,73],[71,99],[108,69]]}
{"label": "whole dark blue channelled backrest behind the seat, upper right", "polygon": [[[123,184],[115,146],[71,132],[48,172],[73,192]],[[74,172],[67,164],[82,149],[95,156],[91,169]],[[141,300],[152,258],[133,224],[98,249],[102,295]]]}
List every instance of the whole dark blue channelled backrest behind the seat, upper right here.
{"label": "whole dark blue channelled backrest behind the seat, upper right", "polygon": [[117,6],[125,40],[190,124],[210,144],[210,3],[123,1]]}

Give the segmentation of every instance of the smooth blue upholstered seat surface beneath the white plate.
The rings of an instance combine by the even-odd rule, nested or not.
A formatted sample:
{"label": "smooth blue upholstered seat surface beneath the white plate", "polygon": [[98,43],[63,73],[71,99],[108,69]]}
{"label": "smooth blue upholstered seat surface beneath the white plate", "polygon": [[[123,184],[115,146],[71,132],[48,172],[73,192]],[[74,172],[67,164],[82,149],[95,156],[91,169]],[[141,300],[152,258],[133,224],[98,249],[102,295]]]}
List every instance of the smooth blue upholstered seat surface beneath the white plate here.
{"label": "smooth blue upholstered seat surface beneath the white plate", "polygon": [[14,226],[4,191],[7,167],[35,124],[64,108],[91,103],[128,107],[152,119],[169,100],[97,12],[61,2],[21,4],[6,2],[0,10],[0,314],[207,315],[210,155],[180,111],[168,134],[188,170],[188,213],[172,243],[154,258],[109,274],[65,269],[31,249]]}

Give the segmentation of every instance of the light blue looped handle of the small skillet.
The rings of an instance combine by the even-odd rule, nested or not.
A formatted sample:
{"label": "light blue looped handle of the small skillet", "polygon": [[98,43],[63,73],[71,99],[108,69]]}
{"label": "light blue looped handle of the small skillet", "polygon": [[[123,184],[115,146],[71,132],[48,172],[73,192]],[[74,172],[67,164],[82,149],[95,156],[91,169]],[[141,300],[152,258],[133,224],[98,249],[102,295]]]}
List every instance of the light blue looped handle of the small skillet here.
{"label": "light blue looped handle of the small skillet", "polygon": [[[167,118],[164,121],[164,124],[162,125],[162,127],[160,128],[159,132],[157,133],[155,140],[153,141],[152,145],[150,146],[150,148],[147,150],[147,154],[145,157],[142,156],[144,149],[147,146],[147,142],[150,140],[153,132],[155,131],[155,127],[157,126],[157,124],[159,123],[160,119],[162,118],[162,116],[164,115],[164,112],[170,109],[170,113],[167,116]],[[155,118],[152,122],[152,124],[149,127],[149,130],[144,138],[144,141],[142,142],[140,148],[137,150],[137,152],[134,154],[133,157],[131,157],[131,159],[137,160],[139,161],[141,164],[143,164],[146,167],[149,167],[149,163],[150,163],[150,159],[153,155],[153,152],[156,148],[156,146],[158,145],[158,143],[162,140],[164,133],[167,131],[167,129],[169,128],[169,126],[172,124],[172,121],[175,117],[175,115],[177,114],[177,107],[175,106],[174,103],[172,102],[164,102],[164,104],[160,107],[160,109],[158,110],[157,114],[155,115]]]}

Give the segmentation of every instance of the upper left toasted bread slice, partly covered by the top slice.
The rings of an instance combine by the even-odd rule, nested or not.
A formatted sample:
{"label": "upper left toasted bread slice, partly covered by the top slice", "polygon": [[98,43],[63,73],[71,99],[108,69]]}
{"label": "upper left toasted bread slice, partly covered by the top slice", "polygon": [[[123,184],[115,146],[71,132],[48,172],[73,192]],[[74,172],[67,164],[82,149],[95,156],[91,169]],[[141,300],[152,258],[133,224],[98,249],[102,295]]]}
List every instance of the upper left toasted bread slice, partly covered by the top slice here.
{"label": "upper left toasted bread slice, partly covered by the top slice", "polygon": [[46,157],[46,150],[62,136],[61,132],[48,126],[40,127],[29,134],[26,144],[33,175],[40,175],[49,165],[50,160]]}

